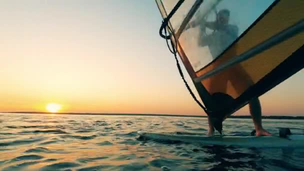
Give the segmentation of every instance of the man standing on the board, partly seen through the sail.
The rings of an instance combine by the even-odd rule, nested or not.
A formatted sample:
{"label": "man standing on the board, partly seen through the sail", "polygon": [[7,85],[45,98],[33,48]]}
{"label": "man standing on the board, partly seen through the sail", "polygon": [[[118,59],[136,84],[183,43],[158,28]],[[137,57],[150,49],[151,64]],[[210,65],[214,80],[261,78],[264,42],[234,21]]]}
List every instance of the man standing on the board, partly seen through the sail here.
{"label": "man standing on the board, partly seen through the sail", "polygon": [[[229,24],[230,11],[228,9],[221,9],[216,13],[215,21],[204,21],[203,17],[198,17],[198,19],[190,22],[185,29],[199,26],[200,27],[200,38],[198,38],[198,44],[200,46],[208,46],[209,51],[213,57],[213,60],[219,56],[237,37],[238,37],[238,27],[233,24]],[[212,29],[213,32],[209,35],[205,34],[205,28]],[[234,54],[231,55],[235,55]],[[224,75],[221,78],[210,78],[210,92],[216,92],[219,89],[225,89],[227,82],[229,81],[235,89],[243,89],[252,84],[250,76],[248,76],[243,70],[243,68],[238,64],[236,65],[232,73],[228,72],[231,75]],[[214,79],[215,78],[215,79]],[[241,83],[240,81],[241,80]],[[214,90],[212,90],[212,87]],[[216,87],[216,88],[215,88]],[[217,89],[217,90],[215,90]],[[262,127],[261,123],[261,106],[259,99],[253,98],[249,101],[249,110],[252,116],[252,120],[255,126],[255,135],[256,136],[270,136],[271,134]],[[216,116],[214,116],[216,117]],[[207,135],[211,136],[214,134],[214,120],[221,119],[221,122],[224,118],[212,118],[208,115],[208,133]],[[220,122],[220,123],[221,123]]]}

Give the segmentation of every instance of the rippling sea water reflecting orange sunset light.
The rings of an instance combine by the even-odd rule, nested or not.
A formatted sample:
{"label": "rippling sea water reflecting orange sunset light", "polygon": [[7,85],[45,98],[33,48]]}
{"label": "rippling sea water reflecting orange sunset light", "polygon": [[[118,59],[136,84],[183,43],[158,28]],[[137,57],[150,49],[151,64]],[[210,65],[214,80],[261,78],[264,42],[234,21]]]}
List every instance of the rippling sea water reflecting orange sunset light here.
{"label": "rippling sea water reflecting orange sunset light", "polygon": [[[304,120],[264,119],[304,133]],[[224,121],[225,135],[248,135],[251,119]],[[136,131],[206,133],[206,118],[0,113],[1,170],[301,170],[304,149],[140,141]],[[273,142],[275,143],[275,142]]]}

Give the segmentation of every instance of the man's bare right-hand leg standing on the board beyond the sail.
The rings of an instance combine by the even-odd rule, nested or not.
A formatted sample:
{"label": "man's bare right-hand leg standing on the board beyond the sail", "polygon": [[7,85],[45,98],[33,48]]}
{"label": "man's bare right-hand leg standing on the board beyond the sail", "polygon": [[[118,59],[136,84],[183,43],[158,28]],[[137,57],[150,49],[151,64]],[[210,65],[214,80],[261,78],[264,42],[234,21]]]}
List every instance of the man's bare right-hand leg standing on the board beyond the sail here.
{"label": "man's bare right-hand leg standing on the board beyond the sail", "polygon": [[256,136],[271,136],[267,130],[262,127],[261,106],[258,98],[249,101],[250,114],[255,126]]}

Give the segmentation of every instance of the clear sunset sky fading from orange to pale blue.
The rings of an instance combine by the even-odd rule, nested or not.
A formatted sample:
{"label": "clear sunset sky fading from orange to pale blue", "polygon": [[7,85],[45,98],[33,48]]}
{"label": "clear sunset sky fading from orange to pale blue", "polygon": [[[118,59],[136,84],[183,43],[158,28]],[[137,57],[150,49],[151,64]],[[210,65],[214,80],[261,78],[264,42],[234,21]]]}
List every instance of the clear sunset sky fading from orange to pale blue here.
{"label": "clear sunset sky fading from orange to pale blue", "polygon": [[[158,35],[154,0],[1,0],[0,21],[0,111],[54,102],[62,112],[204,114]],[[304,115],[303,73],[261,96],[264,114]]]}

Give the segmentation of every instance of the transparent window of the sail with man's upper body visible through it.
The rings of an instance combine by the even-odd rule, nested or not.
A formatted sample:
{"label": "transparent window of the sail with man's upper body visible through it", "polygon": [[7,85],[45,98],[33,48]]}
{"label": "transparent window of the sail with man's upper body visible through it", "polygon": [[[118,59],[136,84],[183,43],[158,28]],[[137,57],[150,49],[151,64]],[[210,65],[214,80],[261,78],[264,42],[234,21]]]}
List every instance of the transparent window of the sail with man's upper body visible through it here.
{"label": "transparent window of the sail with man's upper body visible through it", "polygon": [[[229,47],[274,0],[204,0],[179,42],[194,71],[200,70]],[[181,5],[170,22],[175,31],[195,0]],[[173,16],[174,16],[173,15]]]}

